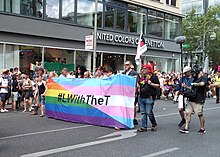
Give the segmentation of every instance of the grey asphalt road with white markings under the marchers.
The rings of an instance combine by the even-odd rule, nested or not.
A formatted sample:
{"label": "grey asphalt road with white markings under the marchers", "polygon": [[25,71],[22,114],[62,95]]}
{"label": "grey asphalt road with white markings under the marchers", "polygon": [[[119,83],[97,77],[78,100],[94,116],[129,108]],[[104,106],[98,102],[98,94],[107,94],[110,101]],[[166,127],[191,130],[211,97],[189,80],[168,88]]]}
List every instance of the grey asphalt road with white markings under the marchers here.
{"label": "grey asphalt road with white markings under the marchers", "polygon": [[[71,123],[30,113],[0,113],[1,157],[220,157],[220,104],[205,104],[206,134],[199,135],[192,116],[189,134],[180,134],[177,105],[159,100],[154,112],[156,132]],[[138,114],[140,124],[140,114]],[[106,136],[109,135],[109,136]]]}

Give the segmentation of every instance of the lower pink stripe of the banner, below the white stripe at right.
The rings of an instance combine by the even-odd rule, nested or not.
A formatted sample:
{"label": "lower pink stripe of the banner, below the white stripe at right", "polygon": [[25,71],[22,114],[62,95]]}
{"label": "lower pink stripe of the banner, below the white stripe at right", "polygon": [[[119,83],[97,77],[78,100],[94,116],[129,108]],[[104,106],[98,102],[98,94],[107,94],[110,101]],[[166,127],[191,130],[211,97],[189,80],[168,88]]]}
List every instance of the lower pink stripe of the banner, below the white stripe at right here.
{"label": "lower pink stripe of the banner, below the white stripe at right", "polygon": [[94,106],[109,116],[117,116],[122,118],[134,118],[134,109],[122,106]]}

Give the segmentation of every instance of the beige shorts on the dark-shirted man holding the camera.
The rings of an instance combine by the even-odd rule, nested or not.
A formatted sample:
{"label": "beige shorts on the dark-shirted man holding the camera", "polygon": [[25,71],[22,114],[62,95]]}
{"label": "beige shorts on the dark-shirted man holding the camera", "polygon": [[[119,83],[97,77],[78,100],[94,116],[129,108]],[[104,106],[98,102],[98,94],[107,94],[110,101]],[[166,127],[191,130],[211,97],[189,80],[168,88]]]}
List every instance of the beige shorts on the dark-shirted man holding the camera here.
{"label": "beige shorts on the dark-shirted man holding the camera", "polygon": [[195,115],[200,116],[203,114],[203,106],[204,104],[189,101],[186,106],[186,113],[192,113],[194,111]]}

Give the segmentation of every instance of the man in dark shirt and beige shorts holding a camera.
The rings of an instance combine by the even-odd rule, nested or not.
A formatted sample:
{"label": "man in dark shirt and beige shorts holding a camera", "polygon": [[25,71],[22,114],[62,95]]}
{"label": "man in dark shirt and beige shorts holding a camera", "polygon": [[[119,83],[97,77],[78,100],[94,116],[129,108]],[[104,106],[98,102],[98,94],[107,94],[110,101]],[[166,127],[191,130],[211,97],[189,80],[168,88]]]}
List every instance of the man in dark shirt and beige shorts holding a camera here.
{"label": "man in dark shirt and beige shorts holding a camera", "polygon": [[205,119],[203,116],[203,106],[205,103],[205,91],[206,91],[206,83],[207,79],[200,74],[199,70],[194,70],[192,73],[194,78],[192,85],[192,91],[194,91],[195,96],[189,97],[188,104],[186,106],[186,125],[185,128],[180,129],[181,133],[188,134],[189,133],[189,124],[191,120],[191,113],[194,111],[195,115],[199,116],[200,121],[200,130],[199,134],[205,134],[206,130],[204,128]]}

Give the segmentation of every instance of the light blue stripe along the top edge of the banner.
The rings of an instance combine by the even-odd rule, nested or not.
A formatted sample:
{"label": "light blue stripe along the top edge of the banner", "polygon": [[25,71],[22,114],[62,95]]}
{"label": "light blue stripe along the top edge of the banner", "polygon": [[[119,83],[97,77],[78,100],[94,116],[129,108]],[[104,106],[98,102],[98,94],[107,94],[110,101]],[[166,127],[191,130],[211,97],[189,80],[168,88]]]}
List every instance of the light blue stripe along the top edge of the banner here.
{"label": "light blue stripe along the top edge of the banner", "polygon": [[61,85],[73,85],[73,86],[112,86],[112,85],[122,85],[135,87],[136,78],[127,75],[114,75],[109,78],[104,79],[93,79],[93,78],[53,78],[53,80]]}

